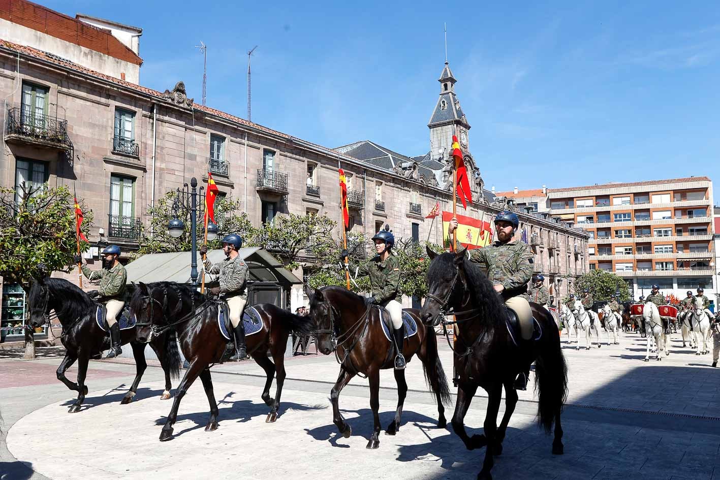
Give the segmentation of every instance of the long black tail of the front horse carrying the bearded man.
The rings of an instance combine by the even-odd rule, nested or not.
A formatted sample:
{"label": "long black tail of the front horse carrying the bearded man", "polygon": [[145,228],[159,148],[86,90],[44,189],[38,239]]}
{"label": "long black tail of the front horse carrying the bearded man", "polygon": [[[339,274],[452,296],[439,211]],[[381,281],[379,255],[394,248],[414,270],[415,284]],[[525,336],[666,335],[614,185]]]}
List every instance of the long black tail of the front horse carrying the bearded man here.
{"label": "long black tail of the front horse carrying the bearded man", "polygon": [[567,363],[559,335],[553,336],[549,345],[541,348],[535,361],[535,389],[538,392],[538,423],[550,433],[555,416],[562,411],[567,399]]}

